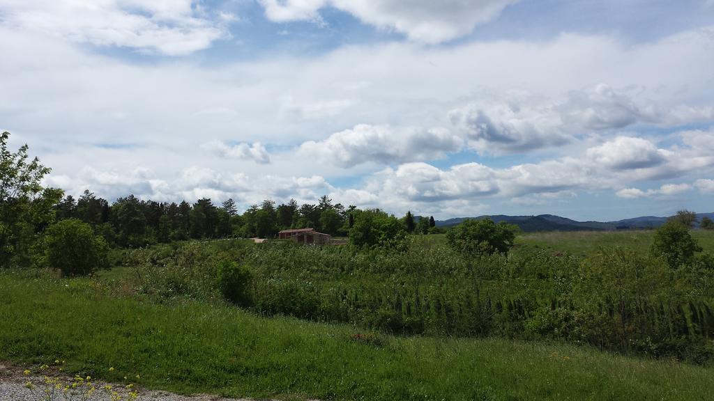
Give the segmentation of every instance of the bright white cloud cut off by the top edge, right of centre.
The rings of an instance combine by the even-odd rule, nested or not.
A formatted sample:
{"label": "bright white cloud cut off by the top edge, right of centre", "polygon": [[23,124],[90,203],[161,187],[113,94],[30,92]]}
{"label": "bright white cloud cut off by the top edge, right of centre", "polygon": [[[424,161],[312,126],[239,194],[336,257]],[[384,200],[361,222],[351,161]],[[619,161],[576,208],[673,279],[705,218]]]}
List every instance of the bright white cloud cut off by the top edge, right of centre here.
{"label": "bright white cloud cut off by the top edge, right of centre", "polygon": [[518,0],[260,0],[272,21],[322,22],[326,6],[346,11],[366,24],[436,44],[471,33],[478,24],[495,19]]}

